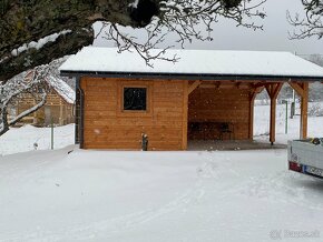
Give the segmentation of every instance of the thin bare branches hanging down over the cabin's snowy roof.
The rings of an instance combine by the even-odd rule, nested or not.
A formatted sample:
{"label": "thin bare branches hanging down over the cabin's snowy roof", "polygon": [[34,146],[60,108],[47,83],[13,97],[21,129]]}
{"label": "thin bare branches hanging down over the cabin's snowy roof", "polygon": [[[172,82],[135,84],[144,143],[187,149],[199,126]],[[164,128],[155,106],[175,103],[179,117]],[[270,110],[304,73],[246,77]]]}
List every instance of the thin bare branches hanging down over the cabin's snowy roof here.
{"label": "thin bare branches hanging down over the cabin's snowy roof", "polygon": [[[265,18],[265,13],[258,8],[265,0],[173,0],[159,2],[159,14],[154,17],[145,27],[145,38],[140,40],[121,30],[120,26],[104,22],[100,32],[106,33],[104,38],[115,42],[119,51],[137,51],[153,67],[151,60],[159,59],[176,62],[179,57],[165,57],[166,50],[173,46],[160,49],[159,52],[151,53],[159,43],[164,42],[168,34],[177,37],[176,42],[184,44],[193,40],[212,41],[212,24],[218,18],[231,19],[236,26],[262,29],[262,26],[251,21],[252,18]],[[200,28],[205,29],[202,31]],[[143,40],[144,38],[144,40]]]}

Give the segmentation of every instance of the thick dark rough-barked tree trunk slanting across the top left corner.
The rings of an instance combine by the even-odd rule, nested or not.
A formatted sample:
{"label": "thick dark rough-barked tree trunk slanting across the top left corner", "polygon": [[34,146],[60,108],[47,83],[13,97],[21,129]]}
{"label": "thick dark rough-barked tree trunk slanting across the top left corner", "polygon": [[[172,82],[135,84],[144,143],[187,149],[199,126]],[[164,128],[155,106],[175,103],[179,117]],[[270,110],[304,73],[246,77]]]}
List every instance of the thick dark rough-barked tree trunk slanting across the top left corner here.
{"label": "thick dark rough-barked tree trunk slanting across the top left corner", "polygon": [[[53,59],[76,53],[81,47],[91,44],[94,40],[91,26],[95,21],[105,20],[123,26],[141,26],[143,21],[134,18],[134,11],[129,7],[131,2],[134,1],[0,1],[0,81],[6,81],[25,70],[48,63]],[[158,3],[157,0],[144,2],[153,2],[156,7]],[[55,42],[47,42],[41,49],[30,48],[18,56],[11,53],[26,43],[37,42],[41,38],[63,30],[70,32],[61,34]]]}

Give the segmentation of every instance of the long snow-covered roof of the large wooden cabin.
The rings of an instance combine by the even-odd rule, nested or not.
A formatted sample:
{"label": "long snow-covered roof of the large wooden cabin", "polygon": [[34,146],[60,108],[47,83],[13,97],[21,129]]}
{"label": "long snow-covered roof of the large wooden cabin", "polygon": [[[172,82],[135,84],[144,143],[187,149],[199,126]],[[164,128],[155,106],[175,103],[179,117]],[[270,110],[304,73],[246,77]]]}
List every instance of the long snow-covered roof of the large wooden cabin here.
{"label": "long snow-covered roof of the large wooden cabin", "polygon": [[[153,52],[160,50],[153,50]],[[214,77],[265,77],[323,79],[323,68],[288,52],[167,50],[166,57],[180,58],[173,63],[164,60],[148,67],[136,52],[117,52],[116,48],[86,47],[61,67],[62,74],[175,74]]]}

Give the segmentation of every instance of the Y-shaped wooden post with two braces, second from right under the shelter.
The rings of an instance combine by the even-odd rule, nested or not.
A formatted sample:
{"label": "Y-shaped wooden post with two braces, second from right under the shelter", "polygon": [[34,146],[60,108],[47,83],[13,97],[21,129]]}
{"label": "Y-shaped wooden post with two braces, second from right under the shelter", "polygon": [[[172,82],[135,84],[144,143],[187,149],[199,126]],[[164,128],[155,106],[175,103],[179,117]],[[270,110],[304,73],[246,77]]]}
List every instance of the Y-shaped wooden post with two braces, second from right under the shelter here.
{"label": "Y-shaped wooden post with two braces, second from right under the shelter", "polygon": [[265,85],[271,98],[271,124],[270,141],[272,144],[276,141],[276,101],[283,83],[268,83]]}

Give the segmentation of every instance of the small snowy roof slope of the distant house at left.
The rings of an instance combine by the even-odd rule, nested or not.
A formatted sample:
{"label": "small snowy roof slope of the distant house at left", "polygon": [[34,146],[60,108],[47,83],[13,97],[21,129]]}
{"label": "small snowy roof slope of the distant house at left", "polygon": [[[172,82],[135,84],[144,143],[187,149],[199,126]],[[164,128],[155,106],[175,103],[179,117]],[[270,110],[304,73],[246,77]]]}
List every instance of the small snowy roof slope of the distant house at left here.
{"label": "small snowy roof slope of the distant house at left", "polygon": [[67,102],[72,104],[76,99],[75,91],[60,78],[49,75],[47,83]]}

